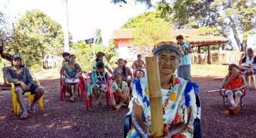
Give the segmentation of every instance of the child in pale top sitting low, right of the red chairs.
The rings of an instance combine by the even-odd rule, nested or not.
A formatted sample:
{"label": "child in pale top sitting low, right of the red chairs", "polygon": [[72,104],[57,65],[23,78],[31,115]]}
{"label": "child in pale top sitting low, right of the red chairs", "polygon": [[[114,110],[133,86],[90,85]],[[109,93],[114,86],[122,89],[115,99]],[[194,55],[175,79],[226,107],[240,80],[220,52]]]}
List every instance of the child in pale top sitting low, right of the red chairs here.
{"label": "child in pale top sitting low, right of the red chairs", "polygon": [[113,82],[114,101],[116,102],[116,109],[119,110],[123,103],[129,104],[128,97],[130,96],[127,82],[122,80],[122,73],[117,71],[114,73],[116,82]]}

